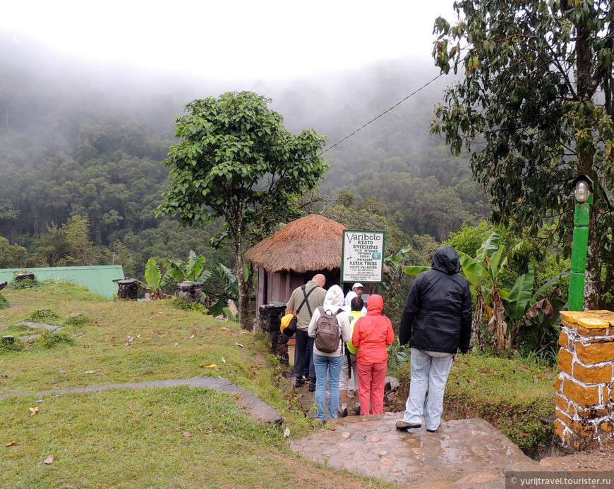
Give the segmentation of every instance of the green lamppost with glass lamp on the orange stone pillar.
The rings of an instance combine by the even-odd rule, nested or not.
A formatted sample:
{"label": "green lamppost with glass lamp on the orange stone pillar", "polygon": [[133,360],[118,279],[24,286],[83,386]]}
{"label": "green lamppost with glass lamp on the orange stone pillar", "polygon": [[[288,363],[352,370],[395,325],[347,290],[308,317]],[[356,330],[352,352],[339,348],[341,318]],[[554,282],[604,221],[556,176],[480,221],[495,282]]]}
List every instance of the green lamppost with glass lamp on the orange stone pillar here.
{"label": "green lamppost with glass lamp on the orange stone pillar", "polygon": [[589,209],[593,203],[593,180],[579,175],[574,180],[574,239],[572,242],[572,271],[570,273],[570,296],[568,309],[584,311],[584,272],[586,251],[589,245]]}

